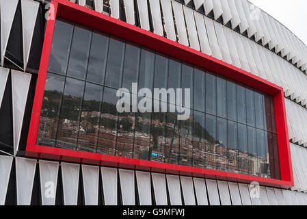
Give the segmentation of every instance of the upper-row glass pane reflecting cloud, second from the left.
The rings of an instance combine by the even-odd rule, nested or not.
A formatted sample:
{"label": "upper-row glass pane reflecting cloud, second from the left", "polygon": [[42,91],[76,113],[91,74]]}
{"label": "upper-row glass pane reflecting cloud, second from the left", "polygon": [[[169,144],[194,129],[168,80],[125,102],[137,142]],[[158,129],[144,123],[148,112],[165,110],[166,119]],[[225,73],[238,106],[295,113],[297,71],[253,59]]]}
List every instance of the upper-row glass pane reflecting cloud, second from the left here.
{"label": "upper-row glass pane reflecting cloud, second from the left", "polygon": [[75,27],[68,62],[68,76],[85,79],[86,70],[88,69],[91,38],[92,31],[77,26]]}

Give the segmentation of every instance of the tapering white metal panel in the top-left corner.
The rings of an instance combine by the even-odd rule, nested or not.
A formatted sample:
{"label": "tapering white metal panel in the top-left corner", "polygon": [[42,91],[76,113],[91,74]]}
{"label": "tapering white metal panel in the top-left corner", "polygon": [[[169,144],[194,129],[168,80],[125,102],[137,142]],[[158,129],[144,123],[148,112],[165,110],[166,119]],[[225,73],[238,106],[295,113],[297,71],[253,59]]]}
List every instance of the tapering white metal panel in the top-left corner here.
{"label": "tapering white metal panel in the top-left corner", "polygon": [[16,13],[18,0],[0,1],[0,20],[1,20],[1,66],[4,64],[4,55]]}

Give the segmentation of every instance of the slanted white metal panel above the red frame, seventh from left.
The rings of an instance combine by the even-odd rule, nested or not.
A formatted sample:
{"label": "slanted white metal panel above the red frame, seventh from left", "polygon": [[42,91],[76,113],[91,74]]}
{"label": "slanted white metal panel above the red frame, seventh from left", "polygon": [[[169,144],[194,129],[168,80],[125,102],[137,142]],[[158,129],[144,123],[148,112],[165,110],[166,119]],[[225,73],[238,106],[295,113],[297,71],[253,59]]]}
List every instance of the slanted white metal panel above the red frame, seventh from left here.
{"label": "slanted white metal panel above the red frame, seventh from left", "polygon": [[165,31],[168,39],[176,41],[175,26],[170,0],[161,0],[161,8],[164,17]]}

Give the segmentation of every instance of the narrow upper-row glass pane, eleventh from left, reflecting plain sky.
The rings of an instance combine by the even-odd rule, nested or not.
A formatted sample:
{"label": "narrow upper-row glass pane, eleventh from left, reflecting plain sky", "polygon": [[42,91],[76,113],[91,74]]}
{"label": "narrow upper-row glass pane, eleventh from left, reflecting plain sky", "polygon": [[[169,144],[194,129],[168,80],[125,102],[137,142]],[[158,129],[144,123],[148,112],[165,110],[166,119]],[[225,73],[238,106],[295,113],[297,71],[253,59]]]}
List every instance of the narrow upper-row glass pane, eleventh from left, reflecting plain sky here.
{"label": "narrow upper-row glass pane, eleventh from left, reflecting plain sky", "polygon": [[216,114],[216,77],[206,73],[206,113]]}

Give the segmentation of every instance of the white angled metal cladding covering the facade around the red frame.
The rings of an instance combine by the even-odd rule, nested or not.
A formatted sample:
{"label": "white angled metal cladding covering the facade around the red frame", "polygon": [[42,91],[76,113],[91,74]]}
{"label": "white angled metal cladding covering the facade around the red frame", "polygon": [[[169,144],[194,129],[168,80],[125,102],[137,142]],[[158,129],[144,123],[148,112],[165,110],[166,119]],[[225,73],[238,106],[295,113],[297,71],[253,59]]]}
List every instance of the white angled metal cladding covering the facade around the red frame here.
{"label": "white angled metal cladding covering the facade around the red frame", "polygon": [[[307,205],[307,47],[289,29],[246,0],[77,2],[284,88],[295,185],[291,190],[261,187],[258,198],[251,198],[244,183],[11,156],[24,147],[20,143],[24,121],[31,116],[25,115],[26,105],[38,69],[28,69],[29,57],[44,5],[1,0],[0,106],[5,93],[11,94],[14,150],[0,155],[0,205]],[[23,59],[16,63],[10,60],[8,44],[15,39],[18,17]],[[39,187],[34,183],[38,180]],[[9,187],[16,190],[16,198]],[[39,203],[31,200],[33,196],[40,197]]]}

